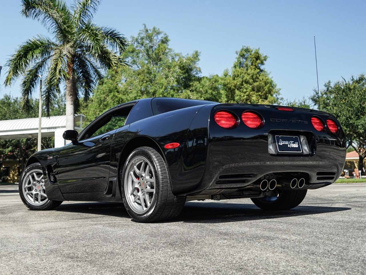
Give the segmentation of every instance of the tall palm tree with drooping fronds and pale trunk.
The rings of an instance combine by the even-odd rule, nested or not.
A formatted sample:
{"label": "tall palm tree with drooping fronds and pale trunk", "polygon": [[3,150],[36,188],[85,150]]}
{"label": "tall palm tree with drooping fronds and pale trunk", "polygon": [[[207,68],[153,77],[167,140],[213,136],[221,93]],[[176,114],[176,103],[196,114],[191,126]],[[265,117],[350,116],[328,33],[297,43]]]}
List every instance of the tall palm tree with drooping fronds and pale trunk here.
{"label": "tall palm tree with drooping fronds and pale trunk", "polygon": [[91,19],[100,0],[75,0],[71,8],[63,0],[22,0],[22,15],[37,19],[53,34],[53,40],[37,36],[20,45],[7,62],[5,85],[20,85],[23,107],[46,74],[42,96],[47,115],[53,99],[66,85],[66,129],[74,129],[74,113],[79,95],[86,101],[107,69],[124,65],[120,54],[127,39],[110,27],[100,27]]}

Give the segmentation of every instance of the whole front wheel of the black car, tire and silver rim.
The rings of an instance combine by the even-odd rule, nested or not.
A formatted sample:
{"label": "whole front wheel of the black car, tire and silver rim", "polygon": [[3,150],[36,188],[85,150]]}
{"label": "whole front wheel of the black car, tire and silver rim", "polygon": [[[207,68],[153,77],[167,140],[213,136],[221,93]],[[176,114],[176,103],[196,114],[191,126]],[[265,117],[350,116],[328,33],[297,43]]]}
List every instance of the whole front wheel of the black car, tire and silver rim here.
{"label": "whole front wheel of the black car, tire and silver rim", "polygon": [[24,169],[18,189],[23,203],[31,210],[51,210],[62,203],[48,199],[42,166],[39,163],[31,164]]}

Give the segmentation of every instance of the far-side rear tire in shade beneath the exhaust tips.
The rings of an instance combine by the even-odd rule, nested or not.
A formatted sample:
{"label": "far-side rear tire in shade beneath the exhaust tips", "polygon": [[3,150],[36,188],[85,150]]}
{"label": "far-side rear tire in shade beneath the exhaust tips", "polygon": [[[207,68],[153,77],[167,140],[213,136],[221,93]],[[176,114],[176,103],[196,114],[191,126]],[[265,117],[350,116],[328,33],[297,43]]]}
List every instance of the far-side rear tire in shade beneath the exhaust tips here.
{"label": "far-side rear tire in shade beneath the exhaust tips", "polygon": [[251,198],[263,210],[287,210],[298,206],[305,198],[307,190],[282,190],[278,197],[265,196]]}

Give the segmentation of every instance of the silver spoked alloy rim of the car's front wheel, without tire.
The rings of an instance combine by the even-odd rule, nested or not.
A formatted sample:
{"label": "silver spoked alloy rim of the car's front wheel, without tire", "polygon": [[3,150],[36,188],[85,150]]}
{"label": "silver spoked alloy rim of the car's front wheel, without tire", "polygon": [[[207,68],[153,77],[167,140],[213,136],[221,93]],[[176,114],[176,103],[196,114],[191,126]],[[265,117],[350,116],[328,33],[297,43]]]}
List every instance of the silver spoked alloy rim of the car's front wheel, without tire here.
{"label": "silver spoked alloy rim of the car's front wheel, without tire", "polygon": [[23,195],[29,204],[40,206],[48,202],[41,169],[30,170],[23,177],[22,188]]}

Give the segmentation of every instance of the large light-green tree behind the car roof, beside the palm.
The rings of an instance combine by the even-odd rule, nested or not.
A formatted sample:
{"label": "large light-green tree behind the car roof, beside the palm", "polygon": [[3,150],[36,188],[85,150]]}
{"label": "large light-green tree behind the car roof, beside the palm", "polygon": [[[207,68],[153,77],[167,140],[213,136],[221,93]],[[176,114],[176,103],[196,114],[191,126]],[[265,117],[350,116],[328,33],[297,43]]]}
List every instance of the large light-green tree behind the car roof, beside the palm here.
{"label": "large light-green tree behind the car roof, beside the palm", "polygon": [[168,35],[153,27],[143,29],[122,54],[130,66],[108,70],[82,113],[91,120],[112,106],[139,98],[182,97],[200,80],[199,53],[182,55],[169,48]]}

